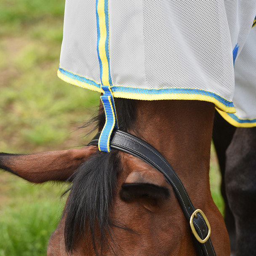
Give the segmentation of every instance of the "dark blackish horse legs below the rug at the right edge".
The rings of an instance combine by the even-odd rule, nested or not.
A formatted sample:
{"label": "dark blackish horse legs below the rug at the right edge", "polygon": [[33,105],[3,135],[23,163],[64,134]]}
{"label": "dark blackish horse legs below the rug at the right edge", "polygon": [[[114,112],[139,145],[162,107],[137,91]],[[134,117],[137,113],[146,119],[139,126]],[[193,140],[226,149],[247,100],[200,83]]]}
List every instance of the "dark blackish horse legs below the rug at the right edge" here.
{"label": "dark blackish horse legs below the rug at the right edge", "polygon": [[256,196],[255,141],[255,127],[236,128],[216,112],[213,142],[222,174],[225,224],[234,255],[256,253],[256,223],[253,214]]}

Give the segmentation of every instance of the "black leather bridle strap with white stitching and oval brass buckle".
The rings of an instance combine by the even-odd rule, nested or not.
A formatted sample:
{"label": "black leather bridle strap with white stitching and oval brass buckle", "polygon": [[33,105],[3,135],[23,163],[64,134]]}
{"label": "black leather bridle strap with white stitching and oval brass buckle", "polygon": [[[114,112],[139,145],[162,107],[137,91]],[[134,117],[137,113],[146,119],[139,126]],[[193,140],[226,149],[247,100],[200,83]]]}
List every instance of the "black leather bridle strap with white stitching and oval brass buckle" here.
{"label": "black leather bridle strap with white stitching and oval brass buckle", "polygon": [[[98,146],[100,134],[101,132],[97,133],[88,145]],[[110,147],[111,149],[118,149],[130,155],[139,157],[144,162],[163,173],[168,184],[173,187],[173,191],[176,194],[186,219],[188,221],[191,219],[191,225],[195,227],[195,231],[200,237],[200,240],[207,237],[209,232],[208,225],[206,224],[207,219],[205,219],[200,212],[192,217],[196,208],[192,204],[184,185],[168,161],[154,147],[136,136],[117,129],[112,133]],[[195,238],[195,236],[193,237]],[[199,243],[196,239],[194,240],[199,256],[216,256],[210,238],[204,243]]]}

